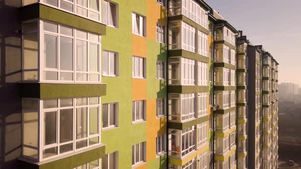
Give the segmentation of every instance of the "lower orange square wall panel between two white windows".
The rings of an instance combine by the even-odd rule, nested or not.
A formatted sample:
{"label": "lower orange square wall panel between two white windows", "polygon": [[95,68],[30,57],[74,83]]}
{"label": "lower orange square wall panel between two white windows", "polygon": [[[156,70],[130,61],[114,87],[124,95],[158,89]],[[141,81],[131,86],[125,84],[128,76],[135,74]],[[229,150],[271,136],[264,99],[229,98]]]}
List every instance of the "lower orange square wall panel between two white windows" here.
{"label": "lower orange square wall panel between two white windows", "polygon": [[132,99],[146,100],[146,79],[132,79]]}

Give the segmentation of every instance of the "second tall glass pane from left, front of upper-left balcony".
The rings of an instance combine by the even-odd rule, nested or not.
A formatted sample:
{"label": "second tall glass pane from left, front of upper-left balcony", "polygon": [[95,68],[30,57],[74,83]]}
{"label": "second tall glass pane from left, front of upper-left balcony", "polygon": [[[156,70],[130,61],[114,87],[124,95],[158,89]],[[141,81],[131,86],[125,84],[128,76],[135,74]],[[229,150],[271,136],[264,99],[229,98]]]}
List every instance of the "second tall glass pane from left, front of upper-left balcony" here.
{"label": "second tall glass pane from left, front of upper-left balcony", "polygon": [[60,69],[73,70],[73,40],[60,37]]}

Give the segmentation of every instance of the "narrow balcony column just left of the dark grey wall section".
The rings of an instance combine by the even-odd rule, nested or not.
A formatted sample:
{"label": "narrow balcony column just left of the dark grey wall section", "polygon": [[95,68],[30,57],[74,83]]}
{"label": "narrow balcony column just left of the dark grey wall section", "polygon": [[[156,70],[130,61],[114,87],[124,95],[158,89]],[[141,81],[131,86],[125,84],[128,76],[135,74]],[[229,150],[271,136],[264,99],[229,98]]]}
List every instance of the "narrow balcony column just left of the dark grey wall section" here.
{"label": "narrow balcony column just left of the dark grey wall section", "polygon": [[247,168],[247,43],[237,44],[237,163],[238,168]]}

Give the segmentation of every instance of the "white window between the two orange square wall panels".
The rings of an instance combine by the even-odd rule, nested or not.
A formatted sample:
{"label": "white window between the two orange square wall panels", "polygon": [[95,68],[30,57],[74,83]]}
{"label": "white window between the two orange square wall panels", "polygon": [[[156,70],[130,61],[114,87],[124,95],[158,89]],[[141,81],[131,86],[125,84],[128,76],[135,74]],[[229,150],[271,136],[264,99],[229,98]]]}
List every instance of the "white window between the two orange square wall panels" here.
{"label": "white window between the two orange square wall panels", "polygon": [[132,57],[132,75],[133,78],[146,78],[146,59]]}

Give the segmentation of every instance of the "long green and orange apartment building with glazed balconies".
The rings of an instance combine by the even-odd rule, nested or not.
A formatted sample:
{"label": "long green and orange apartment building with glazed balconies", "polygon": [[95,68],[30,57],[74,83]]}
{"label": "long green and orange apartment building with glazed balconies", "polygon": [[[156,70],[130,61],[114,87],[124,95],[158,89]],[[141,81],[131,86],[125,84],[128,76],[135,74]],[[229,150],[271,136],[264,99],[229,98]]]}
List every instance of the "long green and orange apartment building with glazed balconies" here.
{"label": "long green and orange apartment building with glazed balconies", "polygon": [[205,1],[0,14],[0,168],[277,168],[278,63]]}

